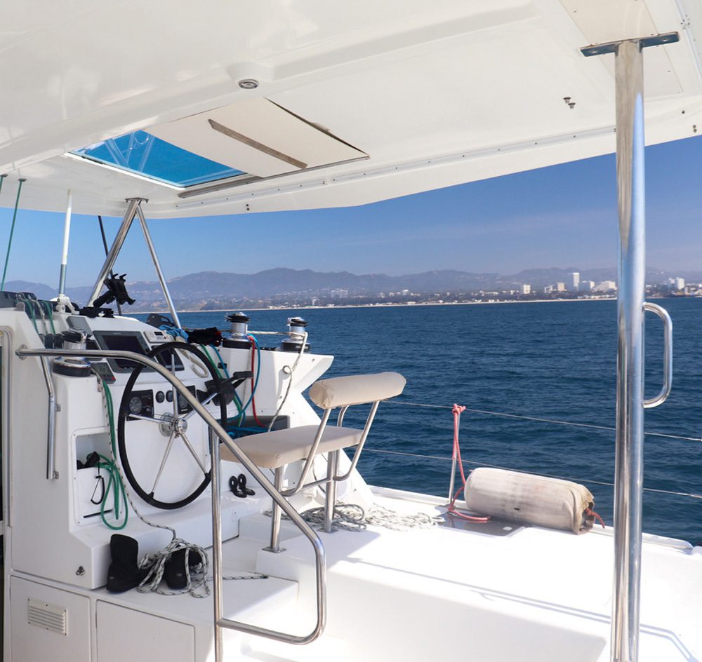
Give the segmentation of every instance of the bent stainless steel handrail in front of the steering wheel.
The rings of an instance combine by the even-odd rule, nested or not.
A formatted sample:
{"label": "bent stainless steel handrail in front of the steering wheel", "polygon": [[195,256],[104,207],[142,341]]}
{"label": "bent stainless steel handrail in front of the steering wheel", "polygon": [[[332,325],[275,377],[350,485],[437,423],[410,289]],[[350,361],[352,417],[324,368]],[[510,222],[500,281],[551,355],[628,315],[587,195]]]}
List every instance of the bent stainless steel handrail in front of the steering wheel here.
{"label": "bent stainless steel handrail in front of the steering wheel", "polygon": [[[316,586],[316,598],[317,598],[317,623],[314,626],[312,632],[307,635],[290,635],[287,633],[277,632],[277,630],[269,630],[267,628],[259,628],[257,626],[249,625],[249,623],[241,623],[239,621],[232,621],[230,619],[225,619],[222,617],[222,528],[221,528],[221,513],[220,517],[217,518],[216,510],[218,513],[219,508],[216,506],[213,508],[213,572],[215,581],[213,582],[213,594],[214,594],[214,609],[215,609],[215,640],[218,636],[218,628],[227,628],[228,630],[237,630],[249,635],[256,635],[258,637],[265,637],[267,639],[276,640],[279,642],[284,642],[286,644],[309,644],[319,638],[324,632],[324,627],[326,625],[326,554],[324,552],[324,545],[322,545],[322,540],[319,538],[316,532],[310,527],[310,525],[300,517],[300,513],[295,510],[285,499],[280,492],[275,489],[274,485],[268,480],[263,471],[254,464],[246,453],[239,447],[237,443],[234,442],[227,434],[225,429],[220,425],[213,415],[208,412],[205,407],[195,398],[190,391],[185,388],[178,377],[171,374],[164,366],[162,366],[157,361],[154,361],[143,354],[138,354],[135,352],[128,351],[114,351],[114,350],[76,350],[76,349],[18,349],[15,351],[15,355],[20,358],[26,358],[29,356],[80,356],[83,358],[124,358],[136,363],[141,363],[147,367],[150,367],[154,372],[157,372],[164,377],[173,386],[178,393],[180,393],[185,401],[192,407],[203,419],[206,424],[211,428],[211,431],[216,435],[234,454],[240,464],[246,468],[249,473],[253,476],[254,480],[263,487],[265,492],[273,499],[274,503],[277,504],[281,510],[288,515],[288,517],[293,521],[293,523],[300,529],[300,532],[307,538],[307,540],[312,543],[312,548],[314,550],[314,569],[315,576],[317,579]],[[217,452],[218,455],[218,452]],[[219,473],[220,467],[215,464],[214,459],[212,463],[212,480],[213,484],[219,485]],[[217,474],[217,475],[216,475]],[[212,490],[213,499],[219,499],[219,495]],[[216,520],[216,521],[215,521]],[[219,633],[220,635],[221,633]],[[221,640],[220,640],[221,641]],[[221,649],[220,657],[216,658],[216,662],[222,660]]]}

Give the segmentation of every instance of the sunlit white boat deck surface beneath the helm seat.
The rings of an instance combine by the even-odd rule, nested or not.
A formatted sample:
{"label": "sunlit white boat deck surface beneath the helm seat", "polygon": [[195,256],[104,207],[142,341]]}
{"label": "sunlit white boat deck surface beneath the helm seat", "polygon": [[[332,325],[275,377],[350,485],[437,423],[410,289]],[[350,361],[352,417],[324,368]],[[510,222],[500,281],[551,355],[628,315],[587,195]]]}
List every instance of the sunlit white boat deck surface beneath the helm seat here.
{"label": "sunlit white boat deck surface beneath the helm seat", "polygon": [[[439,499],[381,492],[376,504],[394,511],[443,510]],[[225,543],[225,575],[254,570],[270,575],[225,581],[225,615],[307,633],[314,625],[310,544],[284,522],[285,551],[266,552],[269,525],[264,515],[245,518],[239,537]],[[293,647],[227,632],[227,656],[321,661],[333,651],[336,660],[419,662],[428,656],[448,658],[463,645],[483,662],[600,662],[609,656],[611,529],[576,536],[515,527],[495,535],[449,527],[394,531],[369,526],[321,535],[328,568],[322,639]],[[643,577],[641,661],[700,658],[701,550],[647,536]],[[211,632],[211,597],[131,591],[110,600]]]}

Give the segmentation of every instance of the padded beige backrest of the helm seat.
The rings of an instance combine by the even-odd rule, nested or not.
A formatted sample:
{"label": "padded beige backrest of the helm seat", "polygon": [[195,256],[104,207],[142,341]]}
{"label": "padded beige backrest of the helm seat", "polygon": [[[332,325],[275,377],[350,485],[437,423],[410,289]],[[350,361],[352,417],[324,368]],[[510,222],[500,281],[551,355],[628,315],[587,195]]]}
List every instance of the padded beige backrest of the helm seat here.
{"label": "padded beige backrest of the helm seat", "polygon": [[322,409],[362,405],[399,396],[405,384],[406,379],[399,372],[332,377],[315,381],[310,387],[310,399]]}

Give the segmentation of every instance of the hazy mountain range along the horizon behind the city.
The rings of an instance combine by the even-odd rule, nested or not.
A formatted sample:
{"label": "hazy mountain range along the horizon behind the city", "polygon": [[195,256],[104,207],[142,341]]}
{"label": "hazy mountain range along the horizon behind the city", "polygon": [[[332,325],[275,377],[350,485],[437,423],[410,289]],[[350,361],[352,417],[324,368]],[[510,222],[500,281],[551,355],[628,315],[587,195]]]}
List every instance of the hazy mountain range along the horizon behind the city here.
{"label": "hazy mountain range along the horizon behind the city", "polygon": [[[410,273],[404,276],[387,276],[384,273],[357,275],[349,271],[319,272],[310,269],[266,269],[258,273],[227,273],[200,271],[179,276],[168,281],[168,287],[178,309],[211,309],[230,306],[253,307],[256,304],[294,302],[330,296],[331,290],[348,290],[354,297],[379,295],[380,292],[409,290],[420,295],[435,292],[477,292],[479,290],[505,290],[529,283],[534,288],[566,281],[567,275],[578,271],[581,280],[614,281],[616,269],[527,269],[519,273],[473,273],[443,269]],[[647,270],[647,283],[657,284],[668,278],[680,276],[687,281],[702,281],[702,271],[668,272],[661,269]],[[40,299],[51,299],[57,290],[44,283],[11,281],[6,289],[15,292],[34,292]],[[67,295],[75,302],[84,304],[91,294],[91,287],[68,288]],[[127,289],[136,299],[136,310],[159,310],[164,308],[164,298],[159,283],[151,281],[128,281]]]}

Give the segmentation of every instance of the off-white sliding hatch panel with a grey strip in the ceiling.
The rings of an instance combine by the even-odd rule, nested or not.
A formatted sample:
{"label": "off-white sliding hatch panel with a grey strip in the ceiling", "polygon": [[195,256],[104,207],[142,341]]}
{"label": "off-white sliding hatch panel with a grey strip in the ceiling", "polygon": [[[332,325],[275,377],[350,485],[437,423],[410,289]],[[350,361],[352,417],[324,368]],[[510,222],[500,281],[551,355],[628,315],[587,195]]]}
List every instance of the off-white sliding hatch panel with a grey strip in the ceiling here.
{"label": "off-white sliding hatch panel with a grey strip in the ceiling", "polygon": [[[258,177],[273,177],[366,156],[264,97],[146,130],[193,154]],[[260,147],[251,143],[258,143]],[[274,156],[275,153],[278,156]]]}

